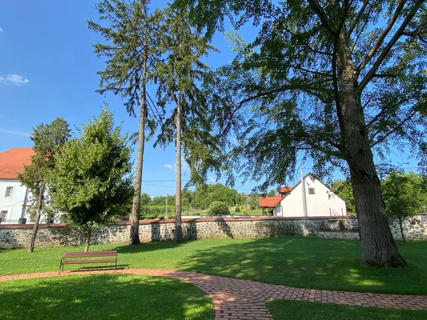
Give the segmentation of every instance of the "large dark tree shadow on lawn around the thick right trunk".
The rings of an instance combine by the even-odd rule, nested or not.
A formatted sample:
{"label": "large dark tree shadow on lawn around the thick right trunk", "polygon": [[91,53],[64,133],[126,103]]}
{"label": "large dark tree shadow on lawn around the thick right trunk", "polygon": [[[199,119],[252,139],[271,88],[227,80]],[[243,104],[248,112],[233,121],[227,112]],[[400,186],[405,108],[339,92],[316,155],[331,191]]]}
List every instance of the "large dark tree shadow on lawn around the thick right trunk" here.
{"label": "large dark tree shadow on lawn around the thick right trunk", "polygon": [[427,294],[426,249],[427,242],[413,244],[418,255],[411,255],[410,267],[392,270],[360,265],[355,240],[260,238],[205,248],[179,269],[292,287]]}

